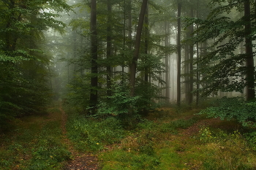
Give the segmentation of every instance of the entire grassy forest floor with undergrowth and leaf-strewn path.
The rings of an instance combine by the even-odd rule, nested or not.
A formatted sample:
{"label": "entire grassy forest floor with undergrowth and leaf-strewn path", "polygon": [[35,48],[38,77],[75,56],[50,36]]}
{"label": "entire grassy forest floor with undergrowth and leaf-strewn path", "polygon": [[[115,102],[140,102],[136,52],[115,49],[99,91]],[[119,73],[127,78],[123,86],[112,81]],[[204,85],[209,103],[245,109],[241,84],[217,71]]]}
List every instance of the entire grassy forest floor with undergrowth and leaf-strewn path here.
{"label": "entire grassy forest floor with undergrowth and leaf-strewn path", "polygon": [[238,132],[236,121],[197,112],[162,108],[137,128],[121,130],[111,118],[96,124],[70,118],[56,104],[48,114],[15,120],[1,134],[0,169],[256,168],[255,148]]}

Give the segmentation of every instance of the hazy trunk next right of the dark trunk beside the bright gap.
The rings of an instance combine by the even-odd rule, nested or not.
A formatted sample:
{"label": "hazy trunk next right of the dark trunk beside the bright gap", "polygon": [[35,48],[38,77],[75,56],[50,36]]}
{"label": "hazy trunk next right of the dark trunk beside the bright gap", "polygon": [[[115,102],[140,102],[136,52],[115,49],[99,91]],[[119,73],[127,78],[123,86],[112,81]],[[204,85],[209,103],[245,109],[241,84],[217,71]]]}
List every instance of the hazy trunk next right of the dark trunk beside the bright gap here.
{"label": "hazy trunk next right of the dark trunk beside the bright gap", "polygon": [[[194,9],[191,8],[191,18],[194,18]],[[194,25],[192,24],[190,26],[190,36],[192,36],[194,32]],[[192,104],[193,101],[193,82],[194,82],[194,76],[193,76],[193,56],[194,56],[194,46],[192,40],[189,41],[189,104]]]}

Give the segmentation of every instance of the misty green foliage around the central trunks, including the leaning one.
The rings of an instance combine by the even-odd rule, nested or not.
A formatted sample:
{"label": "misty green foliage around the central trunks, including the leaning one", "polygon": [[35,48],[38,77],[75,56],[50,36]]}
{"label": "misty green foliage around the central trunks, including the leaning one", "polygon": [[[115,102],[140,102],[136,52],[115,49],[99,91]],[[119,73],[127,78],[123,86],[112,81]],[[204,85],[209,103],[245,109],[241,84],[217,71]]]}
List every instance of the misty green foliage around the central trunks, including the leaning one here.
{"label": "misty green foliage around the central trunks, including the leaning one", "polygon": [[[72,19],[70,26],[76,31],[76,34],[81,42],[81,45],[75,45],[72,53],[73,58],[69,58],[67,55],[66,60],[69,61],[69,64],[74,66],[74,79],[70,83],[70,93],[68,94],[71,101],[70,104],[73,107],[80,109],[80,112],[85,112],[86,109],[89,109],[89,93],[91,89],[90,81],[88,77],[97,76],[99,79],[97,94],[97,114],[94,114],[96,117],[107,116],[107,115],[124,115],[127,113],[138,113],[142,114],[144,111],[154,110],[159,107],[160,96],[162,94],[157,85],[154,85],[153,82],[160,82],[164,84],[165,82],[159,77],[164,71],[164,64],[162,63],[162,58],[165,56],[164,53],[166,50],[174,51],[173,49],[166,49],[159,45],[162,42],[164,36],[162,35],[148,35],[148,47],[150,48],[151,53],[145,54],[143,47],[140,50],[140,60],[138,61],[138,78],[136,80],[136,94],[132,98],[129,95],[129,76],[127,76],[127,68],[130,66],[132,61],[132,47],[134,45],[134,40],[132,35],[126,35],[123,31],[132,31],[133,25],[138,20],[138,9],[140,9],[140,2],[138,1],[127,1],[125,2],[111,1],[110,6],[112,7],[111,12],[108,9],[107,1],[102,1],[97,4],[97,41],[100,42],[97,48],[97,64],[98,64],[98,74],[91,74],[91,51],[90,51],[90,35],[89,32],[89,4],[84,2],[78,2],[75,5],[75,10],[77,15],[75,19]],[[129,3],[131,3],[129,5]],[[149,7],[154,10],[160,10],[158,4],[153,2],[149,3]],[[126,18],[132,19],[132,26],[128,24],[124,25],[124,14]],[[130,12],[130,13],[129,13]],[[151,17],[151,15],[149,15]],[[153,18],[153,17],[152,17]],[[154,18],[154,20],[156,20]],[[154,25],[154,23],[153,23]],[[152,26],[153,26],[152,25]],[[106,29],[108,28],[108,29]],[[144,33],[143,33],[144,34]],[[69,34],[73,36],[73,33]],[[111,47],[107,49],[106,45],[108,44],[107,37],[110,38]],[[143,35],[143,38],[144,37]],[[107,45],[108,46],[108,45]],[[143,41],[142,45],[143,46]],[[79,53],[77,51],[79,50]],[[111,51],[111,54],[107,53]],[[67,59],[69,58],[69,59]],[[83,63],[83,64],[81,64]],[[106,69],[111,70],[111,72],[106,72]],[[110,69],[109,69],[110,68]],[[124,68],[124,72],[122,70]],[[141,78],[145,76],[145,70],[148,69],[148,74],[150,74],[151,82],[146,84]],[[111,83],[107,81],[110,77]],[[112,87],[110,88],[109,86]],[[108,89],[107,89],[108,88]],[[107,93],[106,93],[107,91]],[[111,92],[111,96],[109,95]],[[147,109],[147,110],[146,110]]]}

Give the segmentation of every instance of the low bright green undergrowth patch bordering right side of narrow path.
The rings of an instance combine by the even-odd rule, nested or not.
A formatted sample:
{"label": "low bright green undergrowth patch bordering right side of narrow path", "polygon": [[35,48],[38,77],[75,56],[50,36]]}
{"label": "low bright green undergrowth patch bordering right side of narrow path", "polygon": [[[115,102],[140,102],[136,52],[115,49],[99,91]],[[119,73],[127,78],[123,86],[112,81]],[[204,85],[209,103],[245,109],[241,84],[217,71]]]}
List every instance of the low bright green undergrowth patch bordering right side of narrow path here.
{"label": "low bright green undergrowth patch bordering right side of narrow path", "polygon": [[69,139],[76,143],[78,150],[102,150],[107,144],[119,142],[125,131],[116,117],[96,120],[83,115],[69,115],[67,124]]}

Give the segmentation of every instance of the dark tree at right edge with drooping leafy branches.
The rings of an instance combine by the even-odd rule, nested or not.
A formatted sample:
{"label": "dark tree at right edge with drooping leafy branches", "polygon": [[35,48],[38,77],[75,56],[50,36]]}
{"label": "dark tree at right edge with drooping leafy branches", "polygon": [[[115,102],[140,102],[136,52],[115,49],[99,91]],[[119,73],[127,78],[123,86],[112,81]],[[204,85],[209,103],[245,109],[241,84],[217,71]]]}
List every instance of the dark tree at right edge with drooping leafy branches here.
{"label": "dark tree at right edge with drooping leafy branches", "polygon": [[[214,4],[217,3],[218,1],[214,1]],[[252,40],[255,39],[251,34],[255,27],[251,28],[251,24],[255,15],[254,12],[250,12],[249,1],[225,1],[218,4],[212,9],[207,20],[198,18],[191,20],[191,23],[200,24],[196,31],[196,42],[214,40],[213,45],[207,48],[207,55],[199,61],[200,72],[207,75],[201,80],[206,86],[200,92],[202,96],[209,96],[211,93],[217,93],[218,90],[235,90],[243,93],[244,87],[247,86],[246,96],[247,100],[250,100],[255,98],[255,68],[252,58],[254,53],[251,50]],[[244,15],[239,15],[237,10],[244,11]],[[238,15],[229,17],[225,12],[236,12]],[[246,39],[246,53],[241,54],[237,48],[244,39]]]}

